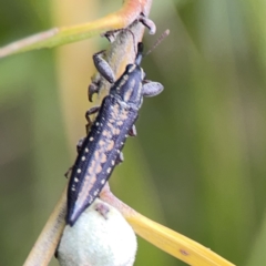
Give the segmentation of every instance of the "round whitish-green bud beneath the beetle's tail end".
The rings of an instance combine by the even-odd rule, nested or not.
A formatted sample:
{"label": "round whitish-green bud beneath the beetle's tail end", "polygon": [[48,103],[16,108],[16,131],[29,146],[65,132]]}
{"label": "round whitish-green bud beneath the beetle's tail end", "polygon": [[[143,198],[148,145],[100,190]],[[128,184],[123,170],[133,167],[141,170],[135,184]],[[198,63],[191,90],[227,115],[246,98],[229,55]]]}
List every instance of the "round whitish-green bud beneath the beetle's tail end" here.
{"label": "round whitish-green bud beneath the beetle's tail end", "polygon": [[96,198],[72,227],[65,226],[57,256],[61,266],[131,266],[136,248],[121,213]]}

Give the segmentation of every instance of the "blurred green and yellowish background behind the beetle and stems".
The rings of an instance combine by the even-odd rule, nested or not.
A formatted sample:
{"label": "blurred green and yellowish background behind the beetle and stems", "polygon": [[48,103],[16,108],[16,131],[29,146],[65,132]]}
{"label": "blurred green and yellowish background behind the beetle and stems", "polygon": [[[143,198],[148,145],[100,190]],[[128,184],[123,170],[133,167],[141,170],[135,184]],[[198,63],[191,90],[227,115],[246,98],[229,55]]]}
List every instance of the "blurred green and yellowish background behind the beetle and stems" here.
{"label": "blurred green and yellowish background behind the beetle and stems", "polygon": [[[60,25],[60,16],[91,21],[121,2],[1,1],[0,45]],[[232,263],[264,265],[266,2],[154,1],[151,18],[157,35],[171,34],[143,68],[165,90],[144,101],[112,190]],[[146,48],[154,40],[146,31]],[[85,133],[91,55],[106,44],[94,38],[0,60],[0,265],[22,265],[64,187]],[[135,265],[184,265],[139,244]]]}

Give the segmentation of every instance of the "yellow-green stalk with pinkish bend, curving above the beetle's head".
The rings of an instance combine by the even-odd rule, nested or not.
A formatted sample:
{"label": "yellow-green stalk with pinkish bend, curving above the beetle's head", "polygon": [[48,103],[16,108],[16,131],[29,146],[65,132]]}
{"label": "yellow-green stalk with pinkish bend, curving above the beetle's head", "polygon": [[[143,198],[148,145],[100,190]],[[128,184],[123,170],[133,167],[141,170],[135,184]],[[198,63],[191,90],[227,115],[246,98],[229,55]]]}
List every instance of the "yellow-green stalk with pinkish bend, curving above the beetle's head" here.
{"label": "yellow-green stalk with pinkish bend, curving above the beetle's head", "polygon": [[150,10],[150,0],[125,0],[123,7],[102,19],[71,27],[53,28],[0,48],[0,58],[42,48],[81,41],[106,31],[127,28],[137,16]]}

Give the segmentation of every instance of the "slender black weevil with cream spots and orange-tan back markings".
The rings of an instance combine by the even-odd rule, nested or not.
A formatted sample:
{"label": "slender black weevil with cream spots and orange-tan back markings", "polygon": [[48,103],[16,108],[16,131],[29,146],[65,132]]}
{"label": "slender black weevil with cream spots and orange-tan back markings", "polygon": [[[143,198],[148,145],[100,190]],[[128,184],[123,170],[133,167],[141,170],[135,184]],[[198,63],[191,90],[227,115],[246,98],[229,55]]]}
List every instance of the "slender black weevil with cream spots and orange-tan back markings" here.
{"label": "slender black weevil with cream spots and orange-tan back markings", "polygon": [[145,73],[140,66],[142,58],[143,44],[139,43],[135,62],[126,65],[101,108],[93,108],[86,113],[88,119],[95,112],[98,116],[79,149],[71,172],[66,212],[66,224],[71,226],[99,196],[115,165],[123,161],[125,140],[136,134],[134,123],[143,96],[155,96],[163,91],[161,83],[144,80]]}

